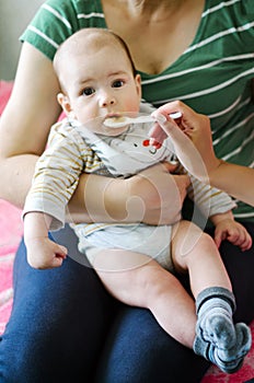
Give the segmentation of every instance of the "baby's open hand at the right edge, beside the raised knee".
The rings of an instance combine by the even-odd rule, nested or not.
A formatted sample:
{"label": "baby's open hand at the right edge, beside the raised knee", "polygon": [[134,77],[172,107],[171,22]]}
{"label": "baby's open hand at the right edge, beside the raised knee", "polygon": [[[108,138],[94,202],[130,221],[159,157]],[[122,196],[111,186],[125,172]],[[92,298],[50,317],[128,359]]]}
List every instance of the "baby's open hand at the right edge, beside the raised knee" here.
{"label": "baby's open hand at the right edge, beside the raised knee", "polygon": [[221,220],[216,225],[215,242],[217,247],[220,247],[221,242],[224,240],[239,246],[243,252],[252,246],[252,237],[246,229],[231,219]]}

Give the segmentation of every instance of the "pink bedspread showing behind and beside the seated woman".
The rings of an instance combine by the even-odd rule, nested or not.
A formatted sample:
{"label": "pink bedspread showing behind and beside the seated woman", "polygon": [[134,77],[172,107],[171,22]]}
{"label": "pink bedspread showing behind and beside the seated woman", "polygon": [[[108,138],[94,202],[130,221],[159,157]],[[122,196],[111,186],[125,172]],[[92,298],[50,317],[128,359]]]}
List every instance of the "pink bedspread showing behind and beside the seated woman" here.
{"label": "pink bedspread showing behind and beside the seated woman", "polygon": [[[0,115],[11,93],[11,83],[0,81]],[[23,233],[21,211],[0,199],[0,334],[3,333],[12,307],[13,259]],[[254,322],[252,323],[254,338]],[[243,383],[254,378],[254,345],[242,369],[231,375],[211,367],[201,383]]]}

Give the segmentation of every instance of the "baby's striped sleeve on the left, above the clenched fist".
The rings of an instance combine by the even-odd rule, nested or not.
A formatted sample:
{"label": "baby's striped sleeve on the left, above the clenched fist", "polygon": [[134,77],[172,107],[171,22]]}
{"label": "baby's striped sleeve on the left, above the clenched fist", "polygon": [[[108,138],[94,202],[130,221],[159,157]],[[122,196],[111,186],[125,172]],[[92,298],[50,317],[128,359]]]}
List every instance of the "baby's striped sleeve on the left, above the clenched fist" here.
{"label": "baby's striped sleeve on the left, above the clenched fist", "polygon": [[67,204],[83,170],[82,147],[83,141],[74,129],[64,130],[60,124],[53,127],[49,147],[36,164],[23,217],[39,211],[53,217],[50,230],[64,227]]}

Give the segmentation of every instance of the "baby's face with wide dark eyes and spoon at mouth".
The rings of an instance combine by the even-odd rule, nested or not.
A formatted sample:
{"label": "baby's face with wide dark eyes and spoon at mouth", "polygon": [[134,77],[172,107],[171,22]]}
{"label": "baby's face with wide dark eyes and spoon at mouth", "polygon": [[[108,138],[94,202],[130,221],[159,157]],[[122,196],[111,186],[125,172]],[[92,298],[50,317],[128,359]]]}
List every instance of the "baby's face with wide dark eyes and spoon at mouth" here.
{"label": "baby's face with wide dark eyes and spoon at mouth", "polygon": [[119,135],[126,127],[109,128],[103,121],[139,112],[140,77],[134,77],[127,55],[118,45],[71,57],[64,68],[62,79],[71,115],[94,132]]}

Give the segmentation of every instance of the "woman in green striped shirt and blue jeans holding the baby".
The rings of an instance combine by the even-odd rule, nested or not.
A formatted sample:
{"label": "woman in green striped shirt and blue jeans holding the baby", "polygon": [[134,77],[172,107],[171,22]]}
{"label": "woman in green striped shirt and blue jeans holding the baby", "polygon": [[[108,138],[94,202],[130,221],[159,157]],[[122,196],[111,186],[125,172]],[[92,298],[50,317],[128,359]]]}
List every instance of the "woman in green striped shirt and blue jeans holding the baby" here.
{"label": "woman in green striped shirt and blue jeans holding the baby", "polygon": [[[252,165],[251,7],[246,0],[46,1],[22,36],[13,94],[1,118],[0,197],[23,206],[34,164],[60,113],[53,57],[62,40],[89,26],[108,27],[126,40],[145,100],[160,106],[180,98],[209,115],[218,156]],[[127,213],[125,201],[139,196],[146,207],[143,221],[154,223],[160,213],[169,221],[175,202],[163,185],[170,175],[153,169],[150,176],[150,182],[136,176],[108,184],[107,178],[84,175],[69,206],[71,218],[136,221],[139,209],[129,204]],[[162,211],[153,177],[165,196]],[[183,196],[186,181],[176,182]],[[95,198],[88,198],[86,192]],[[239,202],[235,217],[253,235],[253,209]],[[187,370],[188,382],[200,381],[208,363],[165,335],[148,311],[109,298],[93,270],[81,265],[68,228],[57,241],[70,254],[58,270],[28,267],[23,243],[16,254],[13,311],[0,343],[1,383],[182,382]],[[242,254],[224,243],[221,254],[236,295],[235,320],[250,322],[254,251]]]}

